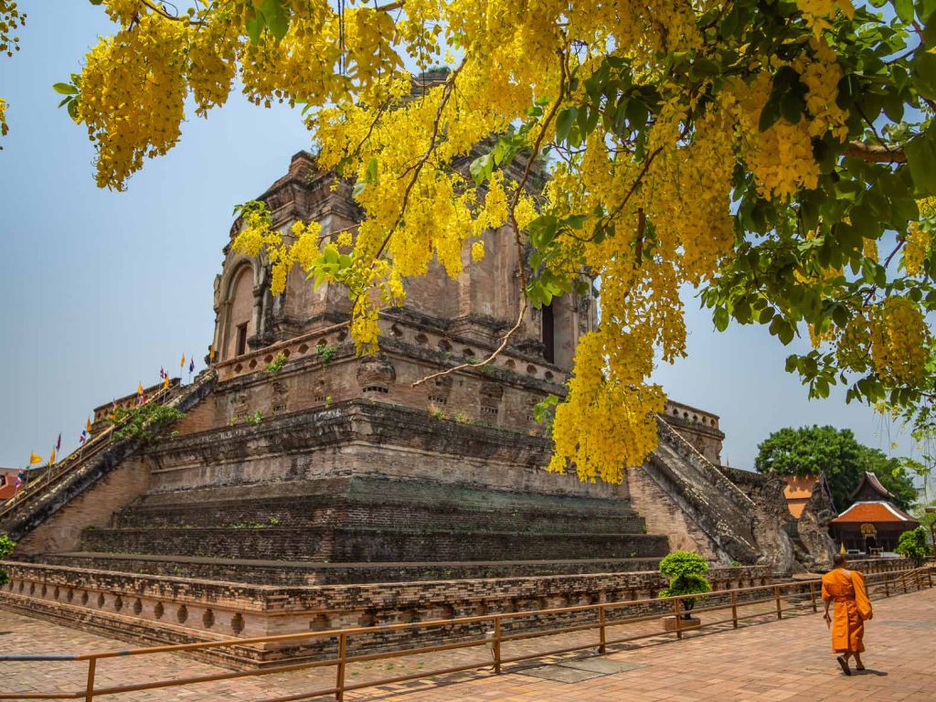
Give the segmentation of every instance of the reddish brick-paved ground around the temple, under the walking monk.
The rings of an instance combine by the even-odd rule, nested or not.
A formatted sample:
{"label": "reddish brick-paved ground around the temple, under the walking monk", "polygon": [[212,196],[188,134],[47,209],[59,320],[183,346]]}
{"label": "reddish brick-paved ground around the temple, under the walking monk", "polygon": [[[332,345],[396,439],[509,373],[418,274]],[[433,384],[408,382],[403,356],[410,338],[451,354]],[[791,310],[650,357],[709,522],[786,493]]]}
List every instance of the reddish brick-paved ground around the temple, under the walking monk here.
{"label": "reddish brick-paved ground around the temple, under the walking monk", "polygon": [[[818,615],[747,626],[677,642],[659,643],[607,656],[552,658],[507,666],[504,675],[465,673],[446,678],[372,688],[346,695],[354,702],[693,702],[695,700],[897,700],[936,699],[936,590],[875,602],[868,625],[865,663],[869,670],[841,675],[828,648],[825,623]],[[710,615],[709,615],[710,616]],[[630,632],[629,632],[630,633]],[[567,637],[566,641],[569,640]],[[671,640],[671,639],[670,639]],[[525,644],[531,645],[531,644]],[[542,645],[542,643],[540,644]],[[548,646],[558,647],[557,641]],[[0,650],[63,652],[123,648],[99,636],[0,610]],[[516,654],[518,651],[513,651]],[[476,650],[473,655],[483,656]],[[510,655],[511,651],[505,651]],[[451,654],[449,654],[451,655]],[[466,655],[464,652],[459,655]],[[110,659],[99,668],[103,685],[193,676],[220,669],[176,656]],[[438,665],[448,659],[380,661],[349,668],[349,682]],[[0,692],[75,690],[84,667],[66,663],[0,664]],[[328,686],[328,678],[303,671],[267,678],[227,680],[187,688],[112,695],[125,702],[260,702]],[[324,684],[323,684],[324,683]],[[95,697],[98,699],[98,697]],[[319,698],[324,699],[324,698]]]}

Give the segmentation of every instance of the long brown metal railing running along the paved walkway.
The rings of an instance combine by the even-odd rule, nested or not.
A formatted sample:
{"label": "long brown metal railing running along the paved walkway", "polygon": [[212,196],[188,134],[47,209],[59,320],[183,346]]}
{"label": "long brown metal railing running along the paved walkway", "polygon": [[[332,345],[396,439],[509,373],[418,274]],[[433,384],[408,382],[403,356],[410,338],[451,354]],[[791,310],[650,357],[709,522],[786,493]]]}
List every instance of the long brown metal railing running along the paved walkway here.
{"label": "long brown metal railing running along the paved walkway", "polygon": [[[915,568],[904,571],[882,573],[870,575],[866,578],[869,596],[884,594],[890,597],[901,592],[919,591],[924,587],[933,586],[932,565],[926,565],[921,568]],[[705,594],[685,595],[679,597],[659,597],[643,600],[628,600],[622,602],[607,602],[594,605],[579,605],[575,607],[555,607],[550,609],[539,609],[519,612],[505,612],[500,614],[484,614],[472,617],[460,617],[445,620],[433,620],[430,622],[412,622],[399,624],[386,624],[383,626],[362,626],[350,629],[336,629],[320,632],[302,632],[300,634],[285,634],[280,636],[256,636],[253,638],[228,638],[218,641],[199,642],[191,644],[176,644],[171,646],[155,646],[149,648],[129,649],[121,651],[100,651],[95,653],[81,653],[77,655],[0,655],[0,662],[7,661],[72,661],[87,662],[87,682],[83,689],[66,692],[53,691],[49,693],[0,693],[0,699],[84,699],[85,702],[91,702],[95,697],[103,695],[122,695],[124,693],[139,692],[142,690],[157,690],[168,687],[181,687],[194,685],[203,682],[217,682],[221,680],[237,680],[241,678],[253,678],[256,676],[266,676],[275,673],[285,673],[296,670],[310,670],[333,666],[335,668],[334,685],[309,690],[301,693],[295,693],[285,696],[267,698],[262,702],[293,702],[300,699],[311,697],[334,695],[336,700],[344,700],[344,694],[378,685],[388,685],[407,680],[421,680],[440,675],[459,673],[469,670],[483,670],[491,668],[494,674],[503,672],[503,666],[521,661],[543,658],[544,656],[560,655],[563,653],[572,653],[576,651],[585,651],[596,649],[598,653],[607,652],[607,647],[622,643],[632,643],[645,638],[660,638],[672,634],[676,639],[682,639],[686,634],[697,632],[706,628],[732,625],[732,629],[738,629],[740,622],[769,617],[781,620],[784,614],[791,611],[806,613],[816,613],[819,611],[819,602],[821,601],[822,581],[820,579],[801,580],[793,582],[784,582],[771,585],[762,585],[748,588],[735,588],[731,590],[722,590],[717,592],[708,592]],[[785,592],[785,593],[784,593]],[[766,594],[767,596],[759,596]],[[707,598],[719,598],[724,600],[722,604],[716,604],[709,607],[693,607],[693,614],[704,612],[729,611],[730,617],[725,617],[713,622],[695,623],[684,622],[680,615],[685,613],[683,607],[684,601],[692,601],[694,604],[699,600]],[[753,614],[739,614],[741,607],[751,607],[754,605],[765,605],[774,603],[775,607],[769,607]],[[784,607],[787,605],[787,607]],[[636,617],[626,617],[623,619],[610,619],[609,610],[620,610],[627,607],[662,607],[667,610],[672,609],[672,616],[675,617],[672,631],[656,630],[651,633],[640,633],[631,636],[609,637],[610,630],[634,624],[637,622],[650,622],[659,620],[661,611],[655,611],[651,614],[643,614]],[[524,617],[541,617],[544,615],[558,614],[581,614],[594,613],[594,619],[591,622],[584,622],[552,629],[535,629],[533,631],[521,631],[519,633],[506,633],[504,623],[518,620]],[[415,629],[431,629],[446,626],[453,626],[467,623],[490,622],[488,630],[483,638],[473,638],[470,640],[453,641],[450,643],[435,644],[431,646],[422,646],[412,649],[402,649],[397,651],[380,651],[374,653],[355,653],[348,654],[348,642],[351,636],[366,636],[370,634],[386,634],[388,631],[403,631]],[[586,643],[577,643],[572,646],[565,646],[560,649],[549,651],[535,651],[533,653],[523,653],[520,655],[506,656],[503,654],[502,647],[505,643],[511,641],[520,641],[530,638],[540,638],[544,636],[558,636],[573,632],[584,632],[597,630],[597,640],[591,640]],[[326,660],[303,661],[300,663],[275,665],[260,669],[224,671],[211,675],[201,675],[190,678],[179,678],[175,680],[154,680],[139,684],[112,685],[110,687],[95,686],[95,675],[97,672],[98,661],[108,658],[127,657],[127,656],[145,656],[158,653],[177,653],[186,651],[208,651],[226,646],[245,646],[248,644],[266,644],[283,643],[289,641],[302,641],[309,639],[337,639],[337,656]],[[464,665],[451,665],[445,668],[436,668],[433,670],[420,670],[411,675],[400,675],[381,680],[368,680],[364,682],[348,681],[347,668],[349,665],[364,663],[367,661],[380,661],[391,658],[401,658],[403,656],[414,656],[424,653],[434,653],[438,651],[454,651],[458,649],[469,649],[475,647],[489,647],[492,660],[473,661]],[[2,680],[2,679],[0,679]]]}

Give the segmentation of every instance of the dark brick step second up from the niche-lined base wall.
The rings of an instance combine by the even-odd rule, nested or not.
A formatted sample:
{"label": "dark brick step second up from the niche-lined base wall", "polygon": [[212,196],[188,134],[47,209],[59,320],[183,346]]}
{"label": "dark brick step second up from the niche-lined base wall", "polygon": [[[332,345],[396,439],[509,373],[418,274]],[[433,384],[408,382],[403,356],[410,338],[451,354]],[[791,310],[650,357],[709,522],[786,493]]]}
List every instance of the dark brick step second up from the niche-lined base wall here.
{"label": "dark brick step second up from the niche-lined base wall", "polygon": [[262,529],[90,529],[82,550],[108,553],[245,558],[331,563],[498,561],[663,556],[665,536],[651,534],[519,533],[388,530],[345,527]]}

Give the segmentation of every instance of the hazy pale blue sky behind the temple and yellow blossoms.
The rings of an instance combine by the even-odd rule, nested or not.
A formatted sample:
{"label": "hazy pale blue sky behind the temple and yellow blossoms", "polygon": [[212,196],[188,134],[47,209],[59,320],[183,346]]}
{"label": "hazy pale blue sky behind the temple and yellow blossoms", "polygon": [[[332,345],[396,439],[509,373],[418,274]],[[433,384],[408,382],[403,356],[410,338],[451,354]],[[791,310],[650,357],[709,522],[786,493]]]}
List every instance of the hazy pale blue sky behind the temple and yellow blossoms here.
{"label": "hazy pale blue sky behind the temple and yellow blossoms", "polygon": [[[231,209],[310,145],[298,112],[234,95],[208,120],[192,116],[181,143],[148,161],[127,192],[98,190],[92,144],[56,109],[51,84],[67,80],[110,25],[82,0],[55,2],[53,12],[48,0],[20,5],[22,51],[0,57],[10,127],[0,152],[0,466],[22,465],[30,451],[47,457],[59,431],[64,448],[76,446],[92,407],[157,382],[183,353],[202,367]],[[765,329],[718,334],[695,300],[688,309],[689,358],[655,379],[674,400],[722,417],[731,465],[752,467],[771,431],[812,423],[850,428],[885,453],[912,452],[899,428],[842,394],[809,402],[783,371],[791,348]]]}

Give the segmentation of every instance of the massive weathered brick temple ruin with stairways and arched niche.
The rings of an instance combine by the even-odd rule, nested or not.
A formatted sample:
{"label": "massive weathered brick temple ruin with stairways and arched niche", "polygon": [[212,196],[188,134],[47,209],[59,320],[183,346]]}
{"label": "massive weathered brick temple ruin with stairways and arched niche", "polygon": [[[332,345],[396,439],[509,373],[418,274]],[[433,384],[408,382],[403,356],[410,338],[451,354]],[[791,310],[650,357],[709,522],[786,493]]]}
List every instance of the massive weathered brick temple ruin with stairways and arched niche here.
{"label": "massive weathered brick temple ruin with stairways and arched niche", "polygon": [[[351,184],[333,182],[300,153],[260,198],[278,227],[335,231],[360,212]],[[413,387],[500,343],[519,314],[509,241],[488,232],[488,256],[458,280],[433,269],[410,281],[405,305],[382,313],[375,358],[355,356],[343,289],[291,275],[274,298],[264,261],[228,245],[218,357],[160,400],[185,417],[140,446],[106,436],[110,403],[95,410],[96,443],[0,511],[0,531],[20,544],[0,605],[179,642],[651,597],[675,548],[715,563],[716,588],[823,563],[823,520],[801,519],[812,531],[800,534],[779,479],[723,469],[718,417],[693,407],[667,404],[659,448],[622,485],[545,472],[533,407],[563,394],[578,337],[595,324],[591,294],[529,311],[490,367]],[[268,370],[281,354],[282,369]],[[314,654],[291,644],[210,655],[256,666]]]}

